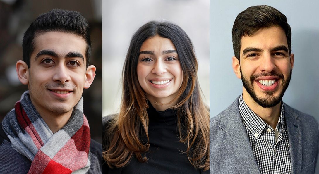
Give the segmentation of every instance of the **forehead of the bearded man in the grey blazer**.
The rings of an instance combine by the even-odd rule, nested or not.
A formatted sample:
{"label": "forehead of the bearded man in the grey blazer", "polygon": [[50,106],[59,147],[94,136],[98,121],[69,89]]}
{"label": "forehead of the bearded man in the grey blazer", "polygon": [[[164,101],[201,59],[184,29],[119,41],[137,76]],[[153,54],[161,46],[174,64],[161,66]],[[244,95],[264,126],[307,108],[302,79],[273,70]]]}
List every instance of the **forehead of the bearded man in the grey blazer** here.
{"label": "forehead of the bearded man in the grey blazer", "polygon": [[247,47],[269,49],[284,45],[288,48],[287,37],[285,31],[278,26],[261,28],[251,36],[241,37],[241,53]]}

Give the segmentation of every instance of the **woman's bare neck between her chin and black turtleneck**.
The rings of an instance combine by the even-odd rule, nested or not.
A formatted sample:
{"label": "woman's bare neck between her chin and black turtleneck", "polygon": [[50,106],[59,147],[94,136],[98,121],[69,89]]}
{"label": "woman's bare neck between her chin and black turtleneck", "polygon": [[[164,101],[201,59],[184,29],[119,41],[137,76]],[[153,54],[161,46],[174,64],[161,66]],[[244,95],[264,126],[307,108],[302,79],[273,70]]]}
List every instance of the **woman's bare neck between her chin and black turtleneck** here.
{"label": "woman's bare neck between her chin and black turtleneck", "polygon": [[174,98],[155,98],[153,96],[147,96],[147,99],[157,111],[165,111],[176,104],[176,101],[172,102]]}

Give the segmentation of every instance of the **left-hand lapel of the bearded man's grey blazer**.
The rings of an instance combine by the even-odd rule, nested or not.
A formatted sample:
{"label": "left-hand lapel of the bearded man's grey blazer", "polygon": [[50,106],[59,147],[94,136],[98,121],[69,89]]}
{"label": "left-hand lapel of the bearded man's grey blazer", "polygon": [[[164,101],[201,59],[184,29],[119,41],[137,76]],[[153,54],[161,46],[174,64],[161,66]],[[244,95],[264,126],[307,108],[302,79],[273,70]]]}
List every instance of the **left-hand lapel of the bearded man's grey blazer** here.
{"label": "left-hand lapel of the bearded man's grey blazer", "polygon": [[228,151],[229,159],[239,173],[260,173],[238,108],[237,98],[230,107],[228,116],[220,122],[225,131],[223,142]]}

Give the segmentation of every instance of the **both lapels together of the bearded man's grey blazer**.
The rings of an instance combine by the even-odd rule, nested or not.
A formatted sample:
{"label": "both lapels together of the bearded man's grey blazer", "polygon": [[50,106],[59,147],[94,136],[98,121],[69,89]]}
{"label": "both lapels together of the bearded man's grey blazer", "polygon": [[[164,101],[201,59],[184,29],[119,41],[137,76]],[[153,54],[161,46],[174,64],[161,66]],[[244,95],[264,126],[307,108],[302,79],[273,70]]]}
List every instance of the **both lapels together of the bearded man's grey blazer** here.
{"label": "both lapels together of the bearded man's grey blazer", "polygon": [[[224,144],[239,173],[260,173],[249,139],[242,124],[238,107],[239,97],[225,110],[219,127],[225,131]],[[301,172],[301,133],[298,114],[293,108],[284,104],[285,121],[289,137],[290,158],[293,173]]]}

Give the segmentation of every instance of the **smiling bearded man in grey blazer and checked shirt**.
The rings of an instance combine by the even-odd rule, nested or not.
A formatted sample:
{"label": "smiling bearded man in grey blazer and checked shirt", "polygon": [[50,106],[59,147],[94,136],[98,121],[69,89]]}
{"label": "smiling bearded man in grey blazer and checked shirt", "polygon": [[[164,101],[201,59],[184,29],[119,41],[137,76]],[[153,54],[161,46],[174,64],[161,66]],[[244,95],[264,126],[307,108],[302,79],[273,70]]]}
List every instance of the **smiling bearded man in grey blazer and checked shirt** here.
{"label": "smiling bearded man in grey blazer and checked shirt", "polygon": [[282,101],[294,63],[286,16],[249,7],[232,34],[243,91],[210,120],[210,173],[314,173],[318,124]]}

